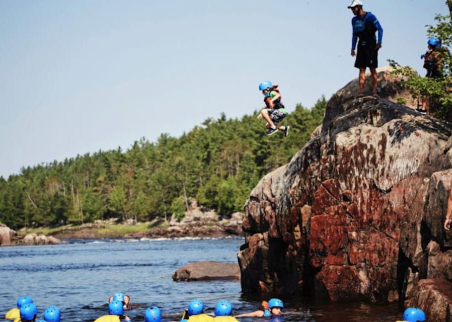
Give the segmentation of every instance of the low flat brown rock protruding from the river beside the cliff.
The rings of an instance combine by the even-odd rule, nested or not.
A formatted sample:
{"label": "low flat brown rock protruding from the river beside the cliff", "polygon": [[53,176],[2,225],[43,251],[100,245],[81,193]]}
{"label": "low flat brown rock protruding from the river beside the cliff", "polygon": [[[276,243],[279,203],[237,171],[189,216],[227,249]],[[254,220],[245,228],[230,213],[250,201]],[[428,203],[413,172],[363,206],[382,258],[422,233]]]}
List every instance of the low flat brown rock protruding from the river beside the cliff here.
{"label": "low flat brown rock protruding from the river beside the cliff", "polygon": [[196,262],[178,269],[173,274],[174,281],[208,281],[240,279],[237,264],[213,261]]}

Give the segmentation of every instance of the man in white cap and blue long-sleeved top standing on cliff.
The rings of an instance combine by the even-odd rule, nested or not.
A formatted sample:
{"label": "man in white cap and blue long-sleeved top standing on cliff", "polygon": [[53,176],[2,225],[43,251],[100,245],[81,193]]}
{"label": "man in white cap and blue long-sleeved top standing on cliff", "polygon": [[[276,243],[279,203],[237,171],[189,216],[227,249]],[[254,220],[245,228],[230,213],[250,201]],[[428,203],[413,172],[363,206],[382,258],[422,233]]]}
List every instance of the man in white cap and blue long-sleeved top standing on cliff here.
{"label": "man in white cap and blue long-sleeved top standing on cliff", "polygon": [[[378,98],[375,69],[378,67],[378,50],[382,48],[383,28],[374,15],[362,10],[361,0],[353,0],[348,8],[355,15],[351,20],[353,28],[351,55],[353,57],[356,56],[355,67],[359,68],[359,93],[357,97],[364,96],[365,69],[369,67],[372,80],[372,96]],[[375,31],[377,30],[378,41],[375,38]],[[355,54],[358,38],[358,53]]]}

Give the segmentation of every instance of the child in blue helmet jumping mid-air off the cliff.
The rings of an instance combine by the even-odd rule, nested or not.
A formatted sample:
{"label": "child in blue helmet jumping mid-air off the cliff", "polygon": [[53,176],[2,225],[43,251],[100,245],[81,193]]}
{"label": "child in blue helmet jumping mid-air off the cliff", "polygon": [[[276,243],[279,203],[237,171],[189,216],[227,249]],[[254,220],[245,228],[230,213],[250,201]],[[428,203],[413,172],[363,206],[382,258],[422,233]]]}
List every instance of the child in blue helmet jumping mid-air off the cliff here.
{"label": "child in blue helmet jumping mid-air off the cliff", "polygon": [[262,91],[264,95],[264,102],[266,108],[264,108],[259,115],[258,119],[264,118],[267,121],[265,127],[268,129],[266,135],[272,135],[279,130],[284,132],[284,136],[289,133],[289,126],[278,125],[286,116],[287,111],[284,108],[284,104],[281,102],[281,94],[277,90],[278,86],[273,85],[269,81],[259,84],[259,91]]}

